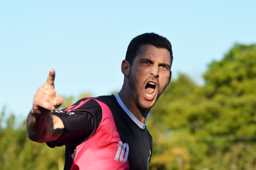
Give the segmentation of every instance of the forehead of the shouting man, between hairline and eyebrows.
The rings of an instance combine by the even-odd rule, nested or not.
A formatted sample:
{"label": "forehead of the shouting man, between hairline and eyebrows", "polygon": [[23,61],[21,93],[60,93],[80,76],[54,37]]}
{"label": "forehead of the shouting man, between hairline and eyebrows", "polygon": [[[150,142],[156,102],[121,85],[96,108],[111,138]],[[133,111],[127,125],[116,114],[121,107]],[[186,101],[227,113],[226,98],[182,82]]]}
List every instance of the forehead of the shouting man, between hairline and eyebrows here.
{"label": "forehead of the shouting man, between hairline and eyebrows", "polygon": [[138,54],[135,60],[142,60],[144,58],[150,60],[171,62],[170,52],[165,48],[157,48],[153,45],[142,45],[139,48]]}

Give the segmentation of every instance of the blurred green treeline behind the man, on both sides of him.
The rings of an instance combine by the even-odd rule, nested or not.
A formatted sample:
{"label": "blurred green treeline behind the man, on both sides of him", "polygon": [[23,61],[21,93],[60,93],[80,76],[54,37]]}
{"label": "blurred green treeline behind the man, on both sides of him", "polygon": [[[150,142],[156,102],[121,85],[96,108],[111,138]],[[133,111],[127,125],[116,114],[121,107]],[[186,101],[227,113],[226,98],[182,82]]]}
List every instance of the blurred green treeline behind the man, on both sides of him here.
{"label": "blurred green treeline behind the man, on both sides of him", "polygon": [[[256,44],[234,45],[203,78],[202,87],[180,74],[151,110],[151,170],[256,169]],[[0,126],[0,169],[63,169],[65,148],[30,141],[25,122],[17,128],[14,120]]]}

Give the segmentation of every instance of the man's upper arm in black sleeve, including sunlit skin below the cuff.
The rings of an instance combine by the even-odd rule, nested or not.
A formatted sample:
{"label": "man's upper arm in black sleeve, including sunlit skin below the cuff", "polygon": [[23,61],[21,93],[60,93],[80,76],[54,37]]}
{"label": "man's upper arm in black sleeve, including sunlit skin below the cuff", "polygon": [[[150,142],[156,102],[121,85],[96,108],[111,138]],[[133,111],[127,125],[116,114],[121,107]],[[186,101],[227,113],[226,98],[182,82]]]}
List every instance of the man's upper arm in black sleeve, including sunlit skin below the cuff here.
{"label": "man's upper arm in black sleeve, including sunlit skin below the cuff", "polygon": [[[77,107],[79,103],[81,101],[74,106]],[[83,103],[79,110],[76,109],[72,111],[63,109],[57,113],[51,113],[54,132],[52,141],[55,141],[55,146],[78,145],[97,131],[102,118],[101,106],[95,100],[89,100]]]}

